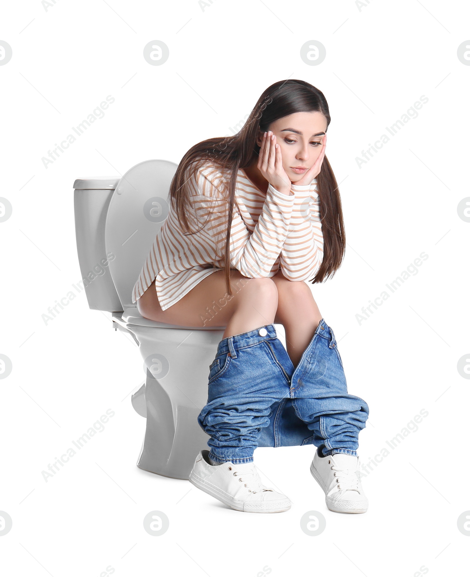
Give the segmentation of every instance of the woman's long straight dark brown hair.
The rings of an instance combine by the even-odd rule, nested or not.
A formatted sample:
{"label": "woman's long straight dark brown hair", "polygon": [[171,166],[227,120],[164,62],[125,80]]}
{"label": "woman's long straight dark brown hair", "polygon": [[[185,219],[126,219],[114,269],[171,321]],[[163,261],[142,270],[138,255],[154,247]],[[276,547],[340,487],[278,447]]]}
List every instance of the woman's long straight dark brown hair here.
{"label": "woman's long straight dark brown hair", "polygon": [[[256,136],[269,130],[271,122],[297,112],[320,112],[330,125],[330,113],[323,93],[303,80],[281,80],[259,97],[243,128],[234,136],[208,138],[195,144],[181,159],[170,185],[171,208],[176,211],[178,222],[184,234],[191,231],[188,219],[189,186],[197,182],[196,173],[207,161],[220,170],[226,171],[227,179],[227,234],[225,239],[224,268],[227,294],[230,287],[230,228],[233,218],[235,187],[239,168],[248,167],[259,156],[260,147]],[[191,182],[188,182],[191,181]],[[342,218],[341,198],[338,183],[330,163],[323,158],[322,168],[316,177],[320,198],[320,218],[323,233],[323,260],[312,284],[323,282],[340,267],[345,252],[345,233]]]}

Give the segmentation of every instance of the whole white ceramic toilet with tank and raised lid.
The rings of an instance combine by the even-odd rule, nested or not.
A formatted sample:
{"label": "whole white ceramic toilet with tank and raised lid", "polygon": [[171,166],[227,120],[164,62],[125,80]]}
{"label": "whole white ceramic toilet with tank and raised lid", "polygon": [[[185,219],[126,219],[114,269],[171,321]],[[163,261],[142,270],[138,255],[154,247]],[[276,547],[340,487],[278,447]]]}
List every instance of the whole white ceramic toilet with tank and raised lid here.
{"label": "whole white ceramic toilet with tank and raised lid", "polygon": [[169,212],[176,168],[146,160],[123,177],[78,178],[74,214],[89,308],[111,313],[113,327],[132,337],[146,366],[145,382],[132,394],[134,409],[147,419],[137,466],[188,479],[197,454],[207,448],[197,415],[207,403],[209,366],[225,327],[158,323],[132,303],[134,284]]}

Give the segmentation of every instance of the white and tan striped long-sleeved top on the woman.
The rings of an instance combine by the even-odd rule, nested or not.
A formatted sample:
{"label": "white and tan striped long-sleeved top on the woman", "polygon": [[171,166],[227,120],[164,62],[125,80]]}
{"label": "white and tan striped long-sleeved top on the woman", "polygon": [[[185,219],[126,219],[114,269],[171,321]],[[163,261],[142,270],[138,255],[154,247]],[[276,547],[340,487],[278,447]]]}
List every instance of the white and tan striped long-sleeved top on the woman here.
{"label": "white and tan striped long-sleeved top on the woman", "polygon": [[[132,302],[155,279],[162,310],[178,302],[206,276],[223,269],[227,234],[227,175],[210,162],[196,173],[189,197],[189,219],[195,234],[184,235],[177,215],[169,215],[156,235],[132,291]],[[232,228],[230,268],[248,278],[274,276],[279,266],[289,280],[312,280],[323,258],[316,179],[292,185],[289,196],[268,185],[264,193],[238,170]]]}

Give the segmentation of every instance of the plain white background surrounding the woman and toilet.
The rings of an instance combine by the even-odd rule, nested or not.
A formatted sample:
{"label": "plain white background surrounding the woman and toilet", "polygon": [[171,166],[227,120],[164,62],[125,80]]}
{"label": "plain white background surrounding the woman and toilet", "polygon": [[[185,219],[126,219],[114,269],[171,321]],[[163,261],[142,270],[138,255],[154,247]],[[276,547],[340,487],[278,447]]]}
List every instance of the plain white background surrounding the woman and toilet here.
{"label": "plain white background surrounding the woman and toilet", "polygon": [[[0,196],[13,206],[0,224],[0,353],[13,364],[0,381],[0,510],[13,519],[0,538],[3,574],[463,574],[470,382],[457,362],[470,352],[470,223],[457,205],[470,196],[470,66],[457,48],[469,40],[469,18],[465,3],[434,0],[2,6],[0,40],[13,50],[0,66]],[[152,40],[169,47],[161,66],[143,58]],[[300,58],[309,40],[326,47],[318,66]],[[178,163],[193,144],[237,132],[264,89],[286,78],[315,85],[330,107],[326,155],[347,249],[334,278],[311,287],[349,392],[370,407],[361,461],[428,411],[364,476],[370,508],[361,515],[326,508],[309,473],[312,445],[257,449],[262,474],[293,501],[275,515],[242,514],[188,481],[140,470],[145,419],[130,404],[143,382],[139,350],[84,293],[42,319],[81,279],[76,178],[122,175],[152,158]],[[115,102],[105,117],[45,168],[47,151],[107,95]],[[417,118],[359,168],[361,151],[421,95]],[[428,258],[415,275],[359,323],[361,308],[421,252]],[[48,464],[108,409],[105,430],[45,482]],[[170,520],[159,537],[143,529],[155,509]],[[301,530],[307,511],[325,516],[322,534]]]}

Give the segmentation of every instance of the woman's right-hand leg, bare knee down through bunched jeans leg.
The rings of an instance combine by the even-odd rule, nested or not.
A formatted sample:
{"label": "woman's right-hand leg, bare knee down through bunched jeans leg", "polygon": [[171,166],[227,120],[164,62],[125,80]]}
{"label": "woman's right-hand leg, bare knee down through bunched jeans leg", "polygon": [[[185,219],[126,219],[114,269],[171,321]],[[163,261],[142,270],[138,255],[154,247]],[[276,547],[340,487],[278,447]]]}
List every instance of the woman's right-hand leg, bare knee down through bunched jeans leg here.
{"label": "woman's right-hand leg, bare knee down through bunched jeans leg", "polygon": [[331,451],[355,455],[368,406],[363,399],[348,394],[333,330],[320,314],[307,283],[292,282],[282,273],[273,280],[278,289],[274,322],[284,325],[286,349],[294,368],[299,366],[304,351],[309,351],[290,383],[296,414],[310,425],[317,446],[322,437],[327,439],[323,456]]}

